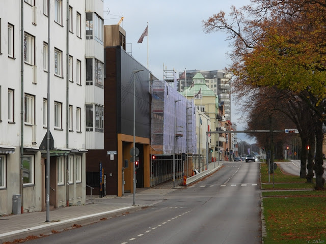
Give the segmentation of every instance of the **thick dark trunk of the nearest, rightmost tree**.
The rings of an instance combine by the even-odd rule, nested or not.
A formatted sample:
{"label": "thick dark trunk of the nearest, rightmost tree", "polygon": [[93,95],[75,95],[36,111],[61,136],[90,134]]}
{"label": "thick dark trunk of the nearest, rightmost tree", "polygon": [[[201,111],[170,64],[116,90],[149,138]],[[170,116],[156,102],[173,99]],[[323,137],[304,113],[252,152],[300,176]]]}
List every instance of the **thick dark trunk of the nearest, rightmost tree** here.
{"label": "thick dark trunk of the nearest, rightmost tree", "polygon": [[314,170],[316,173],[316,187],[315,190],[324,190],[325,179],[322,177],[324,169],[322,167],[322,142],[323,142],[323,133],[322,133],[322,122],[317,121],[317,126],[315,130],[316,134],[316,157],[315,157],[315,166]]}

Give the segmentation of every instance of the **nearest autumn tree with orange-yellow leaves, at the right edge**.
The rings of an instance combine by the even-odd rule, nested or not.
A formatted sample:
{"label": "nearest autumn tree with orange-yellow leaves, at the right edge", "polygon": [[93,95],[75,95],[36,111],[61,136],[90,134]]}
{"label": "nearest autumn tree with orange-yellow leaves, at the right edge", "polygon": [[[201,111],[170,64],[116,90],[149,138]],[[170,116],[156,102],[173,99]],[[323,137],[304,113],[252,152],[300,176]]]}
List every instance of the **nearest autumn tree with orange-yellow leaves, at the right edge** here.
{"label": "nearest autumn tree with orange-yellow leaves, at the right edge", "polygon": [[[206,33],[225,31],[233,47],[230,71],[240,96],[260,87],[288,90],[309,109],[316,138],[316,189],[324,188],[322,125],[326,114],[326,1],[252,0],[228,18],[203,21]],[[308,117],[307,117],[308,118]]]}

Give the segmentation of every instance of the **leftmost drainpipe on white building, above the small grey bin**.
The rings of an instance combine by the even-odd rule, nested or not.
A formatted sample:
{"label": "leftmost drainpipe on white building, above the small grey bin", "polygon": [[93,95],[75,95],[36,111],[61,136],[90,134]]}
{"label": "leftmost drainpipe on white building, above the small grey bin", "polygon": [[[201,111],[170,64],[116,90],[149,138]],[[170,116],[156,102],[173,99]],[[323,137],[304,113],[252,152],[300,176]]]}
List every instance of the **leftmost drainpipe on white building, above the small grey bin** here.
{"label": "leftmost drainpipe on white building, above the small grey bin", "polygon": [[23,214],[23,159],[24,159],[24,0],[20,0],[20,213]]}

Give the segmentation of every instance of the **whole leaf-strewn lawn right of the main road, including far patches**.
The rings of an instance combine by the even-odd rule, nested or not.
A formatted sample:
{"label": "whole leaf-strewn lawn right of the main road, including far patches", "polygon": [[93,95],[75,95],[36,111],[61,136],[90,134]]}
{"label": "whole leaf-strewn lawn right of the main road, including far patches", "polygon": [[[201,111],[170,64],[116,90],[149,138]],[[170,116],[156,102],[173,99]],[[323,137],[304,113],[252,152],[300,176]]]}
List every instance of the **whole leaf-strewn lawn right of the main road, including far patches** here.
{"label": "whole leaf-strewn lawn right of the main road, including far patches", "polygon": [[[270,176],[273,181],[273,175]],[[306,179],[283,174],[278,167],[273,182],[262,184],[263,215],[266,225],[264,244],[325,243],[326,191],[305,191],[314,188]],[[267,165],[261,163],[261,182],[268,181]],[[280,191],[303,189],[303,191]]]}

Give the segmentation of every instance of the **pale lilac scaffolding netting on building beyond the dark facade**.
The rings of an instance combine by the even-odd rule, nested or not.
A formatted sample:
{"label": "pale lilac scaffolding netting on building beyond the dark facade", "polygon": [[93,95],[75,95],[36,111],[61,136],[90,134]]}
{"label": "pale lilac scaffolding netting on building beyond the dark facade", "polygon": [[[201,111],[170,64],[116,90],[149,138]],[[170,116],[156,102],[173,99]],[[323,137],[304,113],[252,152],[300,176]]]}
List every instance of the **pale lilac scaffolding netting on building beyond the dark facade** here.
{"label": "pale lilac scaffolding netting on building beyond the dark facade", "polygon": [[166,81],[153,81],[151,93],[152,148],[162,154],[193,153],[196,145],[193,102],[188,102]]}

